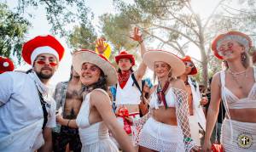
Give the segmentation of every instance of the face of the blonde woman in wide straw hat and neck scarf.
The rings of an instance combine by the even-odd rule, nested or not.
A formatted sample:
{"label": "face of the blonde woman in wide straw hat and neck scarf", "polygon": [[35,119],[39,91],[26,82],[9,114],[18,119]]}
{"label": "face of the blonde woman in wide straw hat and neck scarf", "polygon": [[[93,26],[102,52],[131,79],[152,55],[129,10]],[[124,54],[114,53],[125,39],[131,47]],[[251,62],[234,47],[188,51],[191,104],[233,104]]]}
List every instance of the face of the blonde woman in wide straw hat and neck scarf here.
{"label": "face of the blonde woman in wide straw hat and neck scarf", "polygon": [[166,64],[166,62],[156,61],[154,62],[154,73],[159,79],[168,77],[171,70],[171,66]]}

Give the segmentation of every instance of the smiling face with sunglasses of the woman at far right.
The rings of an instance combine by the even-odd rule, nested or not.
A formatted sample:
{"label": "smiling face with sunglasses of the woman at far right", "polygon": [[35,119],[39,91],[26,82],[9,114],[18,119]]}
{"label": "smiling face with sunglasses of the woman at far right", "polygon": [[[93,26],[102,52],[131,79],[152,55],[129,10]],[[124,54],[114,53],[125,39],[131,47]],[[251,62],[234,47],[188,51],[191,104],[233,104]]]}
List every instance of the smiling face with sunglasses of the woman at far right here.
{"label": "smiling face with sunglasses of the woman at far right", "polygon": [[218,47],[218,54],[223,57],[224,60],[240,59],[241,53],[245,51],[245,48],[235,40],[227,40],[220,44]]}

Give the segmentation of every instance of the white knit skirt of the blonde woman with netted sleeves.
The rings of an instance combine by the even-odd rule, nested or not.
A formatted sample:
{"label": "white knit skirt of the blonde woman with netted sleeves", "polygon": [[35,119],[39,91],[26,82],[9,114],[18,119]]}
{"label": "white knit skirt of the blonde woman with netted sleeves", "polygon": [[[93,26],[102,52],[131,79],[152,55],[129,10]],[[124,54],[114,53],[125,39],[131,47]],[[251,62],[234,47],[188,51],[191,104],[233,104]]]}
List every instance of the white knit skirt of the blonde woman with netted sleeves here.
{"label": "white knit skirt of the blonde woman with netted sleeves", "polygon": [[183,152],[183,135],[178,134],[177,126],[155,121],[152,117],[143,126],[139,145],[164,152]]}

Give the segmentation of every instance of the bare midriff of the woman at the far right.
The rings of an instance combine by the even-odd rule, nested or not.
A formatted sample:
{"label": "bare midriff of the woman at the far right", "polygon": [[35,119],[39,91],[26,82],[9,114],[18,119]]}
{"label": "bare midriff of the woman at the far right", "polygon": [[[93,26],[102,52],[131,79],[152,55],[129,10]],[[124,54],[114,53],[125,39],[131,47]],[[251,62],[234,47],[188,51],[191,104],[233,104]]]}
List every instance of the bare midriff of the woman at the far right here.
{"label": "bare midriff of the woman at the far right", "polygon": [[229,110],[231,120],[256,123],[256,108]]}

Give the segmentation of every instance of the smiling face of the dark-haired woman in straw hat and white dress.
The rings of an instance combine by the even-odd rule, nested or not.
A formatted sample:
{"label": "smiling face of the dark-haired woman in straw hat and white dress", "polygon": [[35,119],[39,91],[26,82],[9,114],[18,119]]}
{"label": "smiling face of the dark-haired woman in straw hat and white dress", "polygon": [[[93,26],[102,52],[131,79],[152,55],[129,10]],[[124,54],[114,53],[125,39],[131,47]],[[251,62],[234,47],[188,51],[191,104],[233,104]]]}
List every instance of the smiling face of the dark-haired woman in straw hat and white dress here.
{"label": "smiling face of the dark-haired woman in straw hat and white dress", "polygon": [[80,80],[85,86],[90,86],[98,82],[101,73],[102,70],[98,66],[84,63],[81,69]]}

